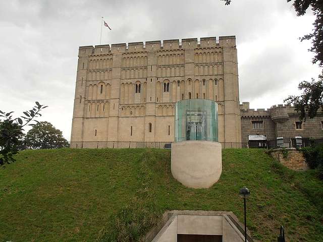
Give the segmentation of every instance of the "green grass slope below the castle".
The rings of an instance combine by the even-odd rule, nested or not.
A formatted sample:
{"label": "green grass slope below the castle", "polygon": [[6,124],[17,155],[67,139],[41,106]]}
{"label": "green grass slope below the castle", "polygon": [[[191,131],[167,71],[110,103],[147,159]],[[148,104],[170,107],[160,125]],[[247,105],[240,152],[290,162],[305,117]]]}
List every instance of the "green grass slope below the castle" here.
{"label": "green grass slope below the castle", "polygon": [[[263,150],[223,150],[220,180],[199,190],[173,178],[169,150],[30,150],[16,158],[0,169],[0,241],[109,240],[129,228],[124,224],[138,237],[172,209],[233,211],[243,221],[242,186],[252,193],[247,223],[254,238],[276,241],[284,225],[287,241],[323,241],[322,181]],[[133,204],[143,212],[135,214]],[[140,229],[129,218],[142,221]]]}

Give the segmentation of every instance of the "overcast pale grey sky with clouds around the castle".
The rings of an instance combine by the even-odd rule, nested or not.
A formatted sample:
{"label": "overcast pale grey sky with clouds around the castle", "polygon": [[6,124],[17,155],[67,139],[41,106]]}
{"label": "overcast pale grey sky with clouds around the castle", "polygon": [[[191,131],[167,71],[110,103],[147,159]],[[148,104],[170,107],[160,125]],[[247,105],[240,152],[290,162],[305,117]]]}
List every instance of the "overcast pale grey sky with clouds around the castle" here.
{"label": "overcast pale grey sky with clouds around the castle", "polygon": [[312,29],[285,0],[208,1],[11,0],[0,2],[0,110],[21,113],[34,101],[70,140],[78,47],[236,35],[240,102],[251,108],[283,103],[317,66],[298,37]]}

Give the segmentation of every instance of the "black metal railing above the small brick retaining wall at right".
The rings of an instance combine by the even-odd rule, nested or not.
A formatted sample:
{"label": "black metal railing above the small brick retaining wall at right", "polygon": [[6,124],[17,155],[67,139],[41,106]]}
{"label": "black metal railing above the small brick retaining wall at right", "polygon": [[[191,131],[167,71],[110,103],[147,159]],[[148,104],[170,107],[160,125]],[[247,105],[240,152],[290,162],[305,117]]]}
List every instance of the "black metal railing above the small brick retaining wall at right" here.
{"label": "black metal railing above the small brick retaining wall at right", "polygon": [[268,149],[278,149],[278,148],[302,148],[311,146],[311,141],[309,138],[277,138],[275,140],[267,141]]}

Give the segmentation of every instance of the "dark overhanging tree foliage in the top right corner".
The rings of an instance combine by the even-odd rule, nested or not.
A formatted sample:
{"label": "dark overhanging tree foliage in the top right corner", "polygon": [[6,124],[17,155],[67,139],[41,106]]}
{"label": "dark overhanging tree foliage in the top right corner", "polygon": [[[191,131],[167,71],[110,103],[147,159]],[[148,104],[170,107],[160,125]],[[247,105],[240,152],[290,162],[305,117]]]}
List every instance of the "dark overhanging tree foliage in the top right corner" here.
{"label": "dark overhanging tree foliage in the top right corner", "polygon": [[[226,5],[231,4],[231,0],[220,0],[225,1]],[[313,57],[313,64],[318,63],[318,66],[323,68],[323,0],[293,0],[293,6],[297,13],[297,16],[302,16],[306,13],[308,8],[311,8],[314,16],[316,17],[313,23],[313,32],[306,34],[300,38],[303,40],[312,40],[312,47],[309,51],[315,55]],[[292,0],[287,0],[287,3]],[[323,70],[322,70],[323,73]]]}

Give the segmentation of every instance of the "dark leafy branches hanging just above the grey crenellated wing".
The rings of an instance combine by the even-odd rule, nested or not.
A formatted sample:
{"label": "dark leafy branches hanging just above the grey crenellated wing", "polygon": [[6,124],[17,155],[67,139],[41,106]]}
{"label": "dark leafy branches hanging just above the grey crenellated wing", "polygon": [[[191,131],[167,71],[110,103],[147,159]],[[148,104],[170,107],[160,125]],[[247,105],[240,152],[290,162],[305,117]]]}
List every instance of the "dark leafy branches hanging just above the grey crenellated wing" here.
{"label": "dark leafy branches hanging just above the grey crenellated wing", "polygon": [[293,104],[299,113],[300,120],[306,117],[313,118],[317,110],[323,105],[323,78],[319,76],[318,81],[312,78],[311,82],[303,81],[298,85],[299,90],[303,90],[300,96],[289,96],[284,100],[287,104]]}

